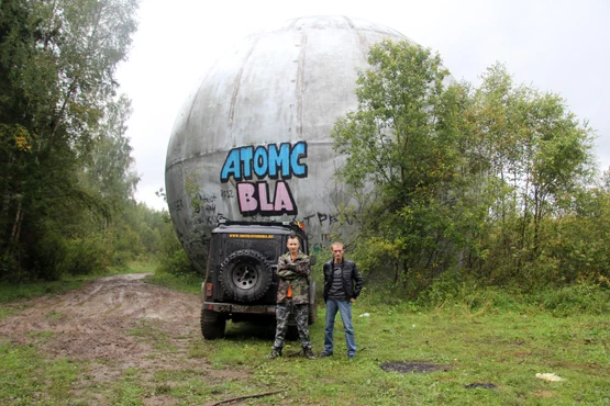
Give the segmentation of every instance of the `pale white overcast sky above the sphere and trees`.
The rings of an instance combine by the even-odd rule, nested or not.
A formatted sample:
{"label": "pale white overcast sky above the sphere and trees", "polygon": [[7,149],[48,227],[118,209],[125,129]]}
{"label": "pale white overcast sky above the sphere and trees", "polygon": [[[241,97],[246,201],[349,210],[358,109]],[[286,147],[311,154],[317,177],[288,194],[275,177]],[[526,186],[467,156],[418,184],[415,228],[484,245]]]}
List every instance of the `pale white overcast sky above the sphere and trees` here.
{"label": "pale white overcast sky above the sphere and trees", "polygon": [[559,93],[597,131],[610,166],[610,1],[606,0],[142,0],[130,58],[118,70],[132,100],[127,135],[142,180],[136,199],[160,210],[165,155],[182,103],[211,64],[246,35],[307,15],[339,14],[395,29],[437,52],[457,80],[479,83],[496,61],[515,83]]}

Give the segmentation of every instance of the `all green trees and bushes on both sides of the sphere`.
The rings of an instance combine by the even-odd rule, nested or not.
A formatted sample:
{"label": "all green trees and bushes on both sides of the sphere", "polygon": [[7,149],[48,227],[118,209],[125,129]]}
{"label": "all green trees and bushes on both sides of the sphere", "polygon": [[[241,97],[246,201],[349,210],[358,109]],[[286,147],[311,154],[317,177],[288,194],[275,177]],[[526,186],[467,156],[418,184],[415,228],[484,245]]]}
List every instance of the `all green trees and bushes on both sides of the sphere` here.
{"label": "all green trees and bushes on both sides of the sphere", "polygon": [[[156,256],[195,272],[166,211],[136,203],[130,100],[114,74],[138,0],[0,1],[0,279],[56,280]],[[479,86],[382,42],[332,132],[356,219],[350,255],[404,297],[464,284],[609,287],[595,131],[503,65]],[[357,207],[357,208],[354,208]]]}

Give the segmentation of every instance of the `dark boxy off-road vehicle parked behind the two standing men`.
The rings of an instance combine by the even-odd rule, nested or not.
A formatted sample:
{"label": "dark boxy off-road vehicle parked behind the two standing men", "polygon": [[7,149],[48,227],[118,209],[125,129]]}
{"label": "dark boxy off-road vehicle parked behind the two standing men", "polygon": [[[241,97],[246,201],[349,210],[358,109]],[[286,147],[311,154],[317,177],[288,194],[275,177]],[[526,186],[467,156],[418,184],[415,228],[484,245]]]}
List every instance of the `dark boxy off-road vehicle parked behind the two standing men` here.
{"label": "dark boxy off-road vehicle parked behind the two standing men", "polygon": [[[212,230],[206,279],[201,284],[201,332],[206,339],[224,336],[226,320],[276,324],[277,262],[296,234],[309,255],[307,235],[296,222],[221,221]],[[311,258],[312,266],[315,258]],[[309,277],[309,324],[315,322],[315,283]],[[296,338],[295,320],[288,337]]]}

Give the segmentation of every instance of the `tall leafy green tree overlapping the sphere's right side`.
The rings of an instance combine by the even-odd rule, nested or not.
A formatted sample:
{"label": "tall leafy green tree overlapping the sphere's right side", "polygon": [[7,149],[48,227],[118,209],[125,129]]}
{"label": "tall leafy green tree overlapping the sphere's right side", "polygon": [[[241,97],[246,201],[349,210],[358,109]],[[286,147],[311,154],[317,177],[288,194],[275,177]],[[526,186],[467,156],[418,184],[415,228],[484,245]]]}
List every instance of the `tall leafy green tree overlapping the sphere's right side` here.
{"label": "tall leafy green tree overlapping the sphere's right side", "polygon": [[336,174],[376,198],[362,200],[358,219],[365,236],[384,238],[395,252],[396,279],[422,270],[431,278],[455,257],[448,255],[458,218],[452,185],[465,165],[465,93],[440,56],[421,46],[385,41],[370,49],[368,63],[357,80],[358,109],[332,133],[345,156]]}

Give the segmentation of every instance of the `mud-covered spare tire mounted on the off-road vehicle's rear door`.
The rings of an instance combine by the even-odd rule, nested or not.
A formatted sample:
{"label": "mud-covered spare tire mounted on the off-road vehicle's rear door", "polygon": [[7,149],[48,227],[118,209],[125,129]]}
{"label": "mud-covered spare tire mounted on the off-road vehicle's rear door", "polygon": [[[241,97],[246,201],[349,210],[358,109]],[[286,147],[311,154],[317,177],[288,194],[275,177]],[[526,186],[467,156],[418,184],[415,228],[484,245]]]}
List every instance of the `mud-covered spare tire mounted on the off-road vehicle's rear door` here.
{"label": "mud-covered spare tire mounted on the off-road vehicle's rear door", "polygon": [[271,285],[271,267],[260,252],[253,249],[231,253],[220,269],[219,280],[224,293],[237,302],[254,302]]}

